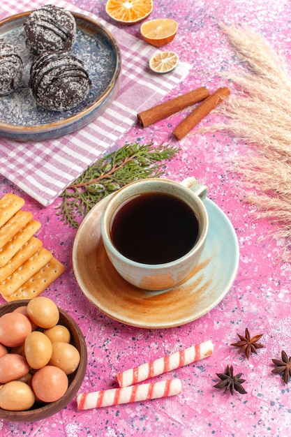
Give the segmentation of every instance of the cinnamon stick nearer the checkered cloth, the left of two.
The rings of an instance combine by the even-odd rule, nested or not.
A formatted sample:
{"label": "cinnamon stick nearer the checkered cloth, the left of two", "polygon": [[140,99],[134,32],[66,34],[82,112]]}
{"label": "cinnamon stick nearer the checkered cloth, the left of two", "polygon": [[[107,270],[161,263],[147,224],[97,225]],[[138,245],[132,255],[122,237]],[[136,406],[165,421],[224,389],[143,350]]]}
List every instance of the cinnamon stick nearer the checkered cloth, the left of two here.
{"label": "cinnamon stick nearer the checkered cloth, the left of two", "polygon": [[137,114],[137,120],[140,122],[142,128],[146,128],[150,124],[163,120],[170,115],[179,112],[188,106],[194,105],[197,102],[204,100],[209,96],[209,91],[205,87],[200,87],[189,91],[182,96],[172,98],[171,100],[160,103],[148,110],[139,112]]}

